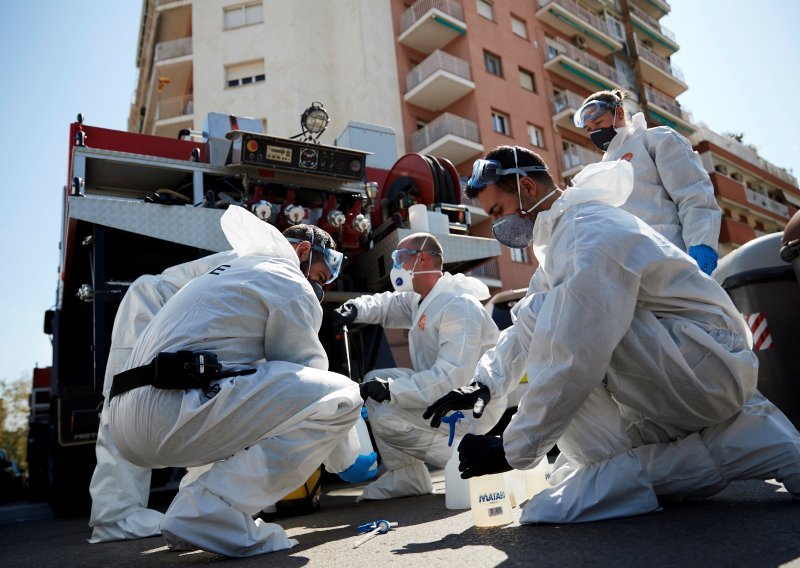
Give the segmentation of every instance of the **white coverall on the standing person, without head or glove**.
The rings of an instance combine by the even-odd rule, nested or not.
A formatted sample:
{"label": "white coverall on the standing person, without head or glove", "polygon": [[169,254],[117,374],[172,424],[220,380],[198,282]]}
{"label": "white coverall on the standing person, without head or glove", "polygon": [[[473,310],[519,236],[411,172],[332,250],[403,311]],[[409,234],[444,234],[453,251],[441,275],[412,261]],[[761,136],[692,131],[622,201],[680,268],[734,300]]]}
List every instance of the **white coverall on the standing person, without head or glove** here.
{"label": "white coverall on the standing person, without head or glove", "polygon": [[631,162],[633,191],[621,206],[681,250],[707,245],[717,250],[722,212],[714,186],[689,141],[667,126],[647,128],[643,113],[617,135],[604,162]]}

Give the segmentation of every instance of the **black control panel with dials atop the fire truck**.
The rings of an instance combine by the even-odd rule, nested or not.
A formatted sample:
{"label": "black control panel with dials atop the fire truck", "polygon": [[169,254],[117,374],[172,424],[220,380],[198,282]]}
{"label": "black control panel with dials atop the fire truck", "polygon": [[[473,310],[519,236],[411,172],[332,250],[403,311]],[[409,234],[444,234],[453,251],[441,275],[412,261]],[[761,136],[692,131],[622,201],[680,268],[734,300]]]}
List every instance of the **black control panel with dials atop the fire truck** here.
{"label": "black control panel with dials atop the fire truck", "polygon": [[228,133],[230,166],[256,166],[354,181],[365,179],[369,152],[235,130]]}

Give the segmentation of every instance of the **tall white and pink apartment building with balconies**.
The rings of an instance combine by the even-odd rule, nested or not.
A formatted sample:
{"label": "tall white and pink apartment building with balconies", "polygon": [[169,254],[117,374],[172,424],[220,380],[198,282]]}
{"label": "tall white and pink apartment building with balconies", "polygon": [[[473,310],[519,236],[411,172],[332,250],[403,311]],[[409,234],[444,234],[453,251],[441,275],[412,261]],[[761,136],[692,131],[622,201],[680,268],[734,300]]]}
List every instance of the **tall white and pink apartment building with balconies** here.
{"label": "tall white and pink apartment building with balconies", "polygon": [[[214,111],[291,136],[316,100],[332,116],[323,143],[348,121],[387,126],[398,155],[447,158],[463,181],[476,157],[516,144],[566,185],[601,158],[573,114],[588,94],[621,88],[629,114],[692,137],[725,211],[728,252],[782,229],[800,192],[677,102],[688,85],[670,61],[669,11],[666,0],[145,0],[129,129],[175,136]],[[473,232],[489,235],[467,204]],[[529,249],[504,248],[473,274],[499,290],[527,286],[534,270]]]}

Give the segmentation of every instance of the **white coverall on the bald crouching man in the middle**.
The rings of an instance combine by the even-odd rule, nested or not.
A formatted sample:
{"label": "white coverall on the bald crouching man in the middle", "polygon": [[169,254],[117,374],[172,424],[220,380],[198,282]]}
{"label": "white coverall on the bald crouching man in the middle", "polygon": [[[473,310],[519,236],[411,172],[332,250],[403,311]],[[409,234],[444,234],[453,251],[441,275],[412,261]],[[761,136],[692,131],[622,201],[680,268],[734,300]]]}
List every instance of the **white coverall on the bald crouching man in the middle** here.
{"label": "white coverall on the bald crouching man in the middle", "polygon": [[[453,453],[447,428],[431,428],[425,409],[450,390],[469,384],[481,355],[497,341],[497,326],[479,300],[489,297],[480,280],[463,274],[442,274],[430,293],[384,292],[352,300],[356,322],[408,329],[413,369],[375,369],[365,376],[388,379],[391,399],[366,401],[378,451],[387,471],[358,498],[391,499],[433,490],[425,463],[444,467]],[[504,408],[492,409],[477,423],[488,430]],[[499,412],[498,412],[499,410]],[[471,414],[458,425],[463,436]]]}

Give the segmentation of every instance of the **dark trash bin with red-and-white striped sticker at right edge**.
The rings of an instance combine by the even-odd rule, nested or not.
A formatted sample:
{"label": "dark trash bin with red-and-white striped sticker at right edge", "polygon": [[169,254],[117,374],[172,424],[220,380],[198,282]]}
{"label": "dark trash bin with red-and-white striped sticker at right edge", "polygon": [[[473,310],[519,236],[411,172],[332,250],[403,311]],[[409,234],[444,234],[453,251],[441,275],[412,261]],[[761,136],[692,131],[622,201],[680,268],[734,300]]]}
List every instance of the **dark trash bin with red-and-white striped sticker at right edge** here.
{"label": "dark trash bin with red-and-white striped sticker at right edge", "polygon": [[758,389],[800,428],[800,286],[780,255],[782,233],[746,243],[713,276],[753,332]]}

